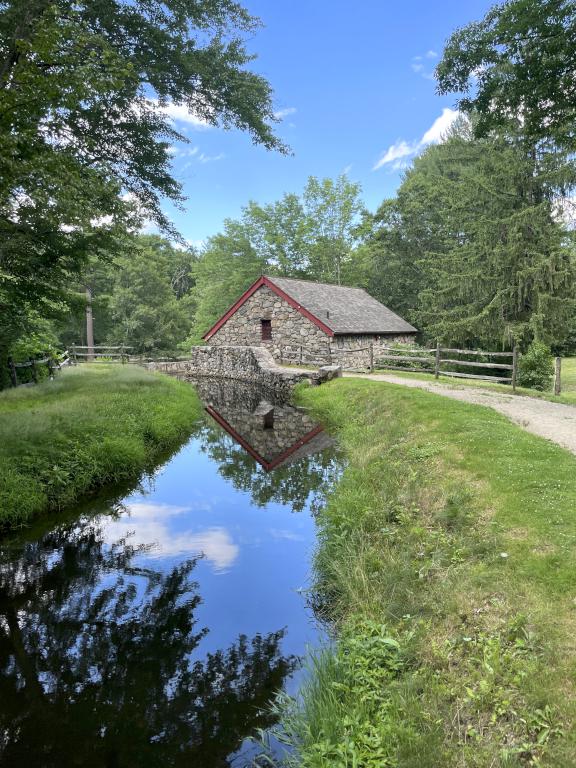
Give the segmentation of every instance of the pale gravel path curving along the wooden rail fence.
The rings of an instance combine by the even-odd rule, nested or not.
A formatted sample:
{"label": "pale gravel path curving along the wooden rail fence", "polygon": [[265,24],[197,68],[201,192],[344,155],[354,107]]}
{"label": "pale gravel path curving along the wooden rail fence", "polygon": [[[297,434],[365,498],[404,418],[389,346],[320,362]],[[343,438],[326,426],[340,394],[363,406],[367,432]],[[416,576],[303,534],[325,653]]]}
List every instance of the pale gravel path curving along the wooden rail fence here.
{"label": "pale gravel path curving along the wooden rail fence", "polygon": [[402,376],[387,373],[370,375],[349,373],[344,375],[372,381],[388,381],[391,384],[402,384],[404,387],[425,389],[427,392],[451,397],[453,400],[462,400],[465,403],[487,405],[489,408],[503,413],[504,416],[528,432],[552,440],[576,454],[576,406],[551,403],[548,400],[537,400],[532,397],[503,395],[490,392],[487,389],[469,387],[455,389],[445,384],[418,379],[404,379]]}

